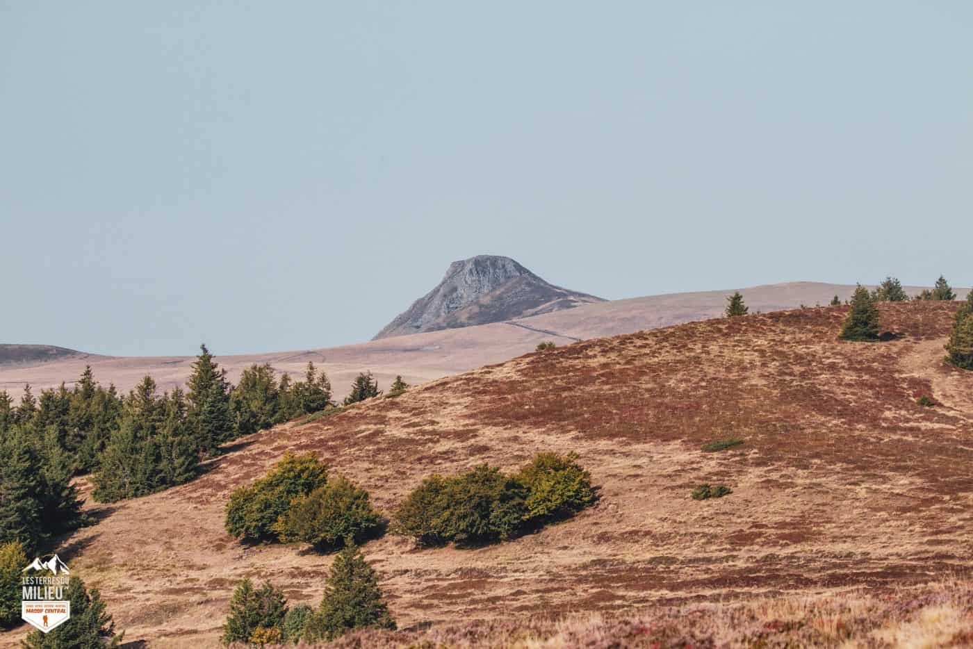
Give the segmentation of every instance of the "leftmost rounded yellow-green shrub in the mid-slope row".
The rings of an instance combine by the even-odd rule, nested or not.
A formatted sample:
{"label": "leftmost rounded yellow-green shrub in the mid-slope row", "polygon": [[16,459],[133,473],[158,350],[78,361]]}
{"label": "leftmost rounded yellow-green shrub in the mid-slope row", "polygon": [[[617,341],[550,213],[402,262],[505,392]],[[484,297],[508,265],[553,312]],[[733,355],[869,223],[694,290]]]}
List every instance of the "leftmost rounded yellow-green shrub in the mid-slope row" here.
{"label": "leftmost rounded yellow-green shrub in the mid-slope row", "polygon": [[227,531],[251,542],[276,540],[274,524],[287,514],[291,500],[323,487],[327,478],[327,466],[314,453],[285,453],[266,477],[230,495]]}

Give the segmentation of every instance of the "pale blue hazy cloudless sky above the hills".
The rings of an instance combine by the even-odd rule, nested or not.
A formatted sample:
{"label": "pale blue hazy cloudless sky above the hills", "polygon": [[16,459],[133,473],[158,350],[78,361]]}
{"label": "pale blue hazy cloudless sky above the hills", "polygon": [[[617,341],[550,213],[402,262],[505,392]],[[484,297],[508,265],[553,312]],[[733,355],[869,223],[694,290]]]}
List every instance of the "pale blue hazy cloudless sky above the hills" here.
{"label": "pale blue hazy cloudless sky above the hills", "polygon": [[4,343],[365,341],[479,253],[965,286],[971,206],[966,1],[0,0]]}

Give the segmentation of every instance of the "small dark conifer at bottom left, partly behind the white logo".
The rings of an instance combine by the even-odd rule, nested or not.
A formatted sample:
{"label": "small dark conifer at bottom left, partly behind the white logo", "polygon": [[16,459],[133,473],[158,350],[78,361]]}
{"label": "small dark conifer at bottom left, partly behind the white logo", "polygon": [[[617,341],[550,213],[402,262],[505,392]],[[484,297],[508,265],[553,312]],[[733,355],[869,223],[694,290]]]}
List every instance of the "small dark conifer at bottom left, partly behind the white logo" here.
{"label": "small dark conifer at bottom left, partly behind the white logo", "polygon": [[71,602],[71,618],[54,631],[32,631],[23,641],[24,649],[119,646],[125,633],[115,634],[115,623],[105,611],[105,602],[97,589],[89,591],[79,577],[72,576],[66,596]]}

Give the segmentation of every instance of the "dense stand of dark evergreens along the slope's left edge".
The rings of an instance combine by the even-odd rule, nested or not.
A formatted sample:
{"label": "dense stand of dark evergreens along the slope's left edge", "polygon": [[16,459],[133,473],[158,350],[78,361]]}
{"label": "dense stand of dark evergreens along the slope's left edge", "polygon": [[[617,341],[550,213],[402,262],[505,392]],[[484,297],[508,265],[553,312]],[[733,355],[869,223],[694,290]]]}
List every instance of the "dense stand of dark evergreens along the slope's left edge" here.
{"label": "dense stand of dark evergreens along the slope's left edge", "polygon": [[[362,374],[345,403],[378,394],[378,381]],[[334,406],[313,363],[298,381],[253,365],[233,386],[205,345],[185,390],[160,394],[147,376],[122,395],[87,367],[71,389],[61,383],[37,397],[26,385],[16,406],[0,391],[0,543],[36,552],[84,523],[76,475],[92,474],[95,500],[146,495],[192,480],[202,459],[236,437]]]}

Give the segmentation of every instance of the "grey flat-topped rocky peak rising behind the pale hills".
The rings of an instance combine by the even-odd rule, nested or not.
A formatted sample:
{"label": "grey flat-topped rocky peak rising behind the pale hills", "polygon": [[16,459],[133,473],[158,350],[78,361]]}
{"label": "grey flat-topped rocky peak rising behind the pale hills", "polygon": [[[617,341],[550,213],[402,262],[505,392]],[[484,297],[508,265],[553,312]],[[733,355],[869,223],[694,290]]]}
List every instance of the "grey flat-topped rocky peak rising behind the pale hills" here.
{"label": "grey flat-topped rocky peak rising behind the pale hills", "polygon": [[372,340],[502,322],[604,302],[550,284],[509,257],[478,255],[450,264],[433,290]]}

